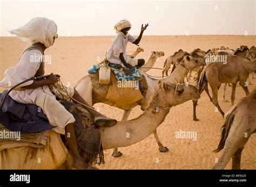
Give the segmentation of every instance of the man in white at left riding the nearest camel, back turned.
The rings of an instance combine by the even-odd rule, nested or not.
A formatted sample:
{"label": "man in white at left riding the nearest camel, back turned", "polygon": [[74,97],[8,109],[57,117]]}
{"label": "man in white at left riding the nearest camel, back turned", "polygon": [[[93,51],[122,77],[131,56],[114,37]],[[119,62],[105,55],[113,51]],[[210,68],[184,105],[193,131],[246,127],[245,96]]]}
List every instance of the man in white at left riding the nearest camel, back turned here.
{"label": "man in white at left riding the nearest camel, back turned", "polygon": [[[57,35],[57,25],[55,21],[47,18],[33,18],[23,27],[10,31],[17,35],[22,41],[30,42],[23,54],[19,58],[16,67],[10,67],[5,71],[5,77],[0,82],[1,87],[8,88],[29,79],[33,76],[44,75],[44,51],[55,42]],[[31,61],[31,56],[39,56],[41,60],[35,58]],[[40,58],[39,58],[40,59]],[[79,155],[73,123],[75,118],[65,107],[56,100],[48,85],[56,83],[58,76],[51,75],[43,80],[29,81],[21,84],[19,90],[12,90],[10,97],[19,103],[35,104],[43,110],[48,117],[49,123],[56,126],[52,130],[65,134],[70,152],[73,157],[72,167],[76,169],[86,169],[88,164],[85,163]],[[70,95],[87,106],[89,104],[78,94],[73,87],[68,87]],[[6,103],[7,104],[7,103]],[[107,118],[92,108],[88,109],[95,119],[95,124],[112,126],[117,123],[116,120]]]}

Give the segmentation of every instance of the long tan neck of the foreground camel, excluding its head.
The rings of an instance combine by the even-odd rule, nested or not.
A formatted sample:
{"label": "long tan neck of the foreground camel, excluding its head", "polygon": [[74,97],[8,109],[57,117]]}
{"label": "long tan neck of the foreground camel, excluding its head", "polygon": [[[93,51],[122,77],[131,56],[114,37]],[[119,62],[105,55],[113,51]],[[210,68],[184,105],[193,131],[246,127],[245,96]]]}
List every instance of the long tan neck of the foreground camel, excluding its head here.
{"label": "long tan neck of the foreground camel, excluding its head", "polygon": [[100,127],[103,149],[125,147],[137,143],[153,133],[163,123],[170,109],[163,109],[150,104],[138,118],[118,121],[112,127]]}

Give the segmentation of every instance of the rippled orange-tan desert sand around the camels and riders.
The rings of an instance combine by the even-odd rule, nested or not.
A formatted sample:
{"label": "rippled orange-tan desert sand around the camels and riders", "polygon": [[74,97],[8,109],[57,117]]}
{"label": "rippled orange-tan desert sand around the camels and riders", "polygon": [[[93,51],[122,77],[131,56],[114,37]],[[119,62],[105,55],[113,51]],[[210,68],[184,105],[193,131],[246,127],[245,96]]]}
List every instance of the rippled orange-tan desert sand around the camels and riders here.
{"label": "rippled orange-tan desert sand around the camels and riders", "polygon": [[[104,58],[104,54],[111,45],[112,37],[59,37],[55,44],[46,50],[45,54],[52,55],[52,63],[45,64],[45,74],[51,72],[62,76],[64,84],[75,85],[83,76],[87,75],[87,69]],[[0,80],[4,71],[10,66],[15,66],[19,55],[26,43],[16,38],[0,37]],[[226,46],[233,49],[240,45],[251,47],[256,45],[255,36],[238,35],[191,35],[191,36],[145,36],[140,42],[140,47],[145,49],[138,57],[149,59],[151,51],[163,51],[164,57],[160,57],[154,67],[162,68],[167,56],[179,49],[191,52],[194,48],[205,51],[213,47]],[[129,44],[127,52],[135,51],[136,45]],[[160,76],[161,70],[151,69],[148,74]],[[250,75],[251,76],[251,75]],[[252,80],[253,90],[256,80]],[[2,91],[3,89],[0,89]],[[211,93],[211,91],[210,91]],[[221,108],[227,111],[231,102],[221,102],[223,85],[219,90],[219,103]],[[230,100],[231,87],[227,88],[226,98]],[[235,103],[245,96],[241,87],[237,87]],[[102,103],[96,104],[100,112],[109,117],[121,119],[122,110]],[[141,114],[137,106],[133,109],[130,118],[136,118]],[[215,112],[215,106],[210,103],[205,92],[198,102],[197,117],[200,121],[192,119],[192,101],[173,107],[166,116],[165,121],[158,127],[158,135],[164,146],[170,150],[160,153],[154,136],[140,141],[132,146],[119,148],[123,156],[114,158],[112,150],[105,150],[105,164],[100,169],[211,169],[214,161],[220,153],[212,152],[219,143],[220,128],[224,119],[220,113]],[[177,131],[196,131],[197,140],[177,139]],[[248,140],[242,154],[241,169],[256,169],[256,136],[253,134]],[[226,169],[231,169],[231,161]]]}

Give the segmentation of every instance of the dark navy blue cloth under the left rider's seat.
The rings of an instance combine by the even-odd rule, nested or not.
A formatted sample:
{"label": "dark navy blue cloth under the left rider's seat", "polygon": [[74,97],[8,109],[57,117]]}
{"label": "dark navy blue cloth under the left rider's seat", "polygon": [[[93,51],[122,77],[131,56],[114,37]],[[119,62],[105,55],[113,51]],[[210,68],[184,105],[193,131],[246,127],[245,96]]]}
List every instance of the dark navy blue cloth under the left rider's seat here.
{"label": "dark navy blue cloth under the left rider's seat", "polygon": [[[8,90],[0,93],[0,103]],[[0,123],[10,131],[22,133],[38,133],[56,126],[49,124],[49,120],[43,110],[34,104],[18,103],[8,96],[0,109]]]}

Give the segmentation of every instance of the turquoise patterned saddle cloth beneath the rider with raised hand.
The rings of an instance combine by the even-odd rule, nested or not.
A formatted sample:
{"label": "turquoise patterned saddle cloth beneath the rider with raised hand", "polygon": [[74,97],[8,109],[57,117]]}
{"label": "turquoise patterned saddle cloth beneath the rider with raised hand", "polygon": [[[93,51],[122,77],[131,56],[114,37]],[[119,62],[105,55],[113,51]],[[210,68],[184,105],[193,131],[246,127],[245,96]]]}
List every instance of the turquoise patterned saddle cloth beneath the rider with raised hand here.
{"label": "turquoise patterned saddle cloth beneath the rider with raised hand", "polygon": [[[100,64],[93,65],[91,68],[88,69],[88,73],[89,74],[97,73],[99,66]],[[132,72],[129,75],[124,72],[124,69],[122,67],[117,68],[117,64],[109,63],[109,66],[114,71],[114,75],[116,75],[117,80],[125,79],[126,81],[128,80],[132,81],[132,80],[138,80],[142,78],[142,74],[139,73],[136,67],[132,68]]]}

